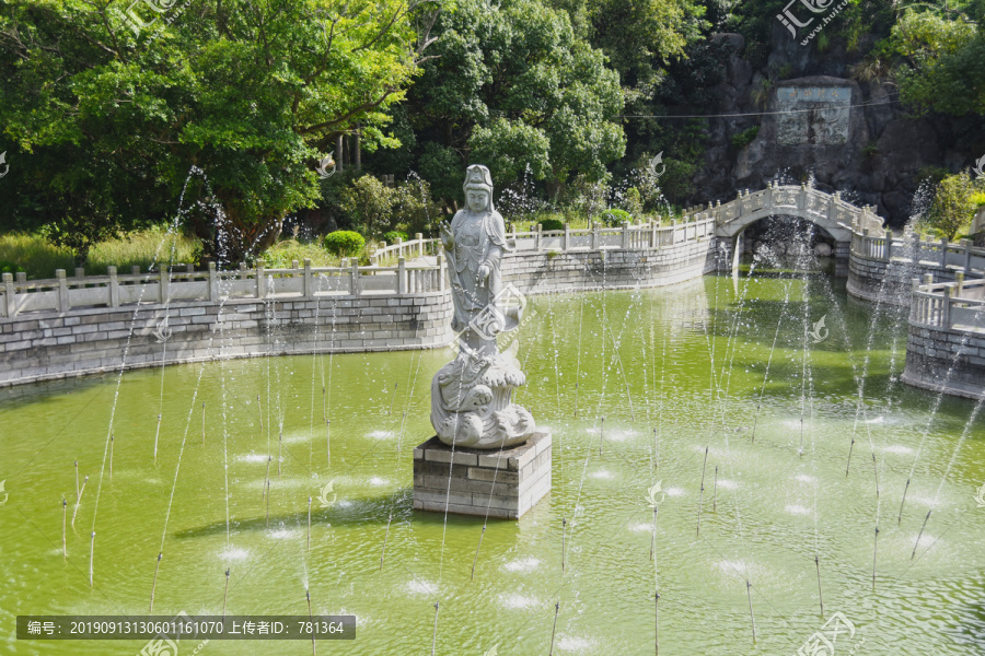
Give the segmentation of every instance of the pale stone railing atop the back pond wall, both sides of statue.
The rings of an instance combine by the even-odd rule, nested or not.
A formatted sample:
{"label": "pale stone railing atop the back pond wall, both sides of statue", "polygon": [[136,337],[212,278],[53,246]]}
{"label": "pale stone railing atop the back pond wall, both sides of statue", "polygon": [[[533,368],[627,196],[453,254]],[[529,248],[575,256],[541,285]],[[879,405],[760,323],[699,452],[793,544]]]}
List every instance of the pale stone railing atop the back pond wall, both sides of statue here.
{"label": "pale stone railing atop the back pond wall, both sides of statue", "polygon": [[[511,232],[507,242],[517,250],[532,253],[601,249],[652,249],[705,239],[714,233],[714,221],[657,222],[621,227],[594,225],[590,229],[564,231]],[[420,235],[417,235],[420,237]],[[356,259],[339,267],[303,266],[297,260],[290,268],[267,269],[263,262],[255,269],[206,271],[190,266],[184,271],[140,272],[139,268],[120,274],[108,267],[106,276],[85,276],[77,269],[68,277],[59,269],[51,280],[28,281],[4,273],[0,284],[0,317],[12,318],[31,313],[67,313],[73,308],[124,307],[141,304],[165,304],[173,301],[221,302],[228,298],[317,298],[332,295],[418,294],[445,289],[443,258],[439,239],[417,238],[378,249],[371,257],[376,262],[396,257],[390,266],[359,267]],[[401,254],[404,254],[403,256]],[[419,258],[432,254],[437,263],[412,265],[406,256]]]}

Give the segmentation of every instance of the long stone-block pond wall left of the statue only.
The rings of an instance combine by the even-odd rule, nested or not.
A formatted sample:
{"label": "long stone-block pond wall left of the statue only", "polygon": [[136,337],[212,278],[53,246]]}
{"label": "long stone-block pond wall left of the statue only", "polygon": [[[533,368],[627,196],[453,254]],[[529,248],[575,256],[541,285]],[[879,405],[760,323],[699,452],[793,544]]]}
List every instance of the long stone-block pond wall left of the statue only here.
{"label": "long stone-block pond wall left of the statue only", "polygon": [[452,339],[451,314],[451,296],[432,292],[25,315],[0,320],[0,386],[153,366],[162,356],[177,364],[432,348]]}

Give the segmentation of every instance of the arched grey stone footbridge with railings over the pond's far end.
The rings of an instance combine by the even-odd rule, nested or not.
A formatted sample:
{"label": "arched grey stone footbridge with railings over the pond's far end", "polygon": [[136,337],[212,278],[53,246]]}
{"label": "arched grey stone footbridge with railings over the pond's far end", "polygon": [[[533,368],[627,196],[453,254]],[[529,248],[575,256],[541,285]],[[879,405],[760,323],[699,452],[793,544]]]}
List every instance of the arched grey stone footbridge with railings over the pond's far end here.
{"label": "arched grey stone footbridge with railings over the pond's far end", "polygon": [[743,231],[767,216],[796,216],[813,223],[834,239],[834,255],[845,265],[853,230],[873,234],[883,231],[883,221],[872,207],[859,208],[842,200],[837,191],[825,194],[807,185],[769,185],[752,194],[740,191],[735,200],[691,208],[685,215],[715,220],[715,236],[731,250],[733,270],[742,253]]}

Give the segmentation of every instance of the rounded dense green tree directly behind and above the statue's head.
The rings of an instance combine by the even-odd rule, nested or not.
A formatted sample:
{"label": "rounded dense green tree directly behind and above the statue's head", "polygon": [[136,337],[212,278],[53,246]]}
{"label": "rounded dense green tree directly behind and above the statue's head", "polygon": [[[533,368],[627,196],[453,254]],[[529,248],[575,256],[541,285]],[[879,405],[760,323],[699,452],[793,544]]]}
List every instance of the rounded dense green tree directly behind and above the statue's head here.
{"label": "rounded dense green tree directly behind and above the statue's head", "polygon": [[449,204],[471,161],[489,165],[500,188],[529,164],[555,195],[578,174],[602,179],[623,155],[613,122],[623,106],[618,77],[576,36],[566,12],[535,0],[505,0],[498,10],[462,0],[436,33],[436,58],[409,97],[419,140],[437,144],[421,171],[442,176],[425,175],[436,192],[454,191]]}

